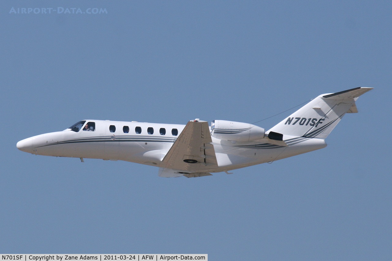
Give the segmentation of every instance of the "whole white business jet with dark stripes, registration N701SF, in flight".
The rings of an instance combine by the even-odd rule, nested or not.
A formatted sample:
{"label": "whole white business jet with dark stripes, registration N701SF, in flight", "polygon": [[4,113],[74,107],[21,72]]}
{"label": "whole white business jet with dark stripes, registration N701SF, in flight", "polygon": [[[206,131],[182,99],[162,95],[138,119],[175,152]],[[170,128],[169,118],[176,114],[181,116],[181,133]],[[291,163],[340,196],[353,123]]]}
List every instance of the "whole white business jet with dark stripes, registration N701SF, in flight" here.
{"label": "whole white business jet with dark stripes, registration N701SF, in flight", "polygon": [[327,146],[325,138],[356,100],[373,88],[358,87],[311,100],[265,131],[236,121],[189,121],[187,125],[83,120],[68,129],[21,140],[36,155],[124,160],[160,167],[159,176],[209,176],[288,158]]}

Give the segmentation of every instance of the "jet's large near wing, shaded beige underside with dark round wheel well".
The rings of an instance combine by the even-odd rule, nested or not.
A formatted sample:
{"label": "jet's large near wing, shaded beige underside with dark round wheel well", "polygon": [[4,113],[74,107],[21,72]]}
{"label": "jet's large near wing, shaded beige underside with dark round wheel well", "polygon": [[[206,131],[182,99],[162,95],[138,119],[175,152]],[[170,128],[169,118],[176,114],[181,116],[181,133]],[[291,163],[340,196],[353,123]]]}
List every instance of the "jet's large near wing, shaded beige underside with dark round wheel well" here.
{"label": "jet's large near wing, shaded beige underside with dark round wheel well", "polygon": [[218,167],[211,142],[207,121],[189,121],[163,158],[165,169],[206,174],[208,169]]}

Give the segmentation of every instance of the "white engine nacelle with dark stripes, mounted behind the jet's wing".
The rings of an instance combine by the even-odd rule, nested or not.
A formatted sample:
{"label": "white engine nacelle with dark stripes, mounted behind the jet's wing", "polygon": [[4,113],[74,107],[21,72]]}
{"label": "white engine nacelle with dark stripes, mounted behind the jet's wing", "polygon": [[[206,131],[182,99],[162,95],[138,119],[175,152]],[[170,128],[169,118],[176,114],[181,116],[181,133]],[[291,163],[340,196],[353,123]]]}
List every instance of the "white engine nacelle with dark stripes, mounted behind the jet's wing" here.
{"label": "white engine nacelle with dark stripes, mounted behind the jet's wing", "polygon": [[265,130],[250,123],[214,120],[211,136],[220,140],[252,141],[264,138]]}

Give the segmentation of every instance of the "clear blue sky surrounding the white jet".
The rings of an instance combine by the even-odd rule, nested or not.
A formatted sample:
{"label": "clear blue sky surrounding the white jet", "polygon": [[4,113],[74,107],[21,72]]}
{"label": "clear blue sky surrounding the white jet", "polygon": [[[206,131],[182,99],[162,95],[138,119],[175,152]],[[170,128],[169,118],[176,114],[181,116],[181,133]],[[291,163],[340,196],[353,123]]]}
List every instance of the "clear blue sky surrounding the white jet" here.
{"label": "clear blue sky surrounding the white jet", "polygon": [[[0,252],[392,259],[390,1],[3,1],[0,10]],[[136,163],[16,149],[87,118],[252,123],[355,87],[375,89],[327,148],[230,175],[160,178]]]}

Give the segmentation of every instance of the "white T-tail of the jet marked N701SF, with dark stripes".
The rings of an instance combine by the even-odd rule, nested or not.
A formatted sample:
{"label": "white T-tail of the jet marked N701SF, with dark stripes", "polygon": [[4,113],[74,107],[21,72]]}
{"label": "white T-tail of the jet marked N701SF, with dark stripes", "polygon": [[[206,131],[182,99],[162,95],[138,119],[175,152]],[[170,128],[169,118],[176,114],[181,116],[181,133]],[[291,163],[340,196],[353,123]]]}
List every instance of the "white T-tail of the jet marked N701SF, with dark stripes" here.
{"label": "white T-tail of the jet marked N701SF, with dark stripes", "polygon": [[325,139],[347,112],[358,112],[356,100],[371,89],[373,88],[358,87],[321,94],[269,131],[289,136]]}

